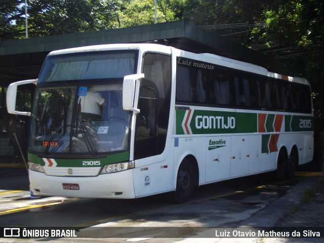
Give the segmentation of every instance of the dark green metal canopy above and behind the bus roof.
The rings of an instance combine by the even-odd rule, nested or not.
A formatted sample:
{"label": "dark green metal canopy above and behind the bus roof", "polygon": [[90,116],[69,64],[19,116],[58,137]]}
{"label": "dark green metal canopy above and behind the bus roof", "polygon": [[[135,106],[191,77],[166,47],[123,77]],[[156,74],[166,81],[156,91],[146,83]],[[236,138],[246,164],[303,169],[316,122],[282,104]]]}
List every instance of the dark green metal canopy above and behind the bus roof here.
{"label": "dark green metal canopy above and behind the bus roof", "polygon": [[121,29],[14,39],[0,42],[0,84],[36,78],[46,55],[59,49],[114,43],[153,42],[194,53],[213,53],[280,72],[277,60],[186,21]]}

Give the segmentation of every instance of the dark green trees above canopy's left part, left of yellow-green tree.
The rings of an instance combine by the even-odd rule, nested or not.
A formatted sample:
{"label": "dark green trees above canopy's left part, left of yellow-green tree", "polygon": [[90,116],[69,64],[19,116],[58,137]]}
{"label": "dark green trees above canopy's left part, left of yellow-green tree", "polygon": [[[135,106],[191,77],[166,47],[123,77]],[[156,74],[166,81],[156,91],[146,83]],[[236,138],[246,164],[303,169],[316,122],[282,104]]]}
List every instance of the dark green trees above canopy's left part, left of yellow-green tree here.
{"label": "dark green trees above canopy's left part, left of yellow-green tree", "polygon": [[[117,27],[119,0],[28,0],[28,36]],[[0,0],[0,39],[25,35],[24,0]]]}

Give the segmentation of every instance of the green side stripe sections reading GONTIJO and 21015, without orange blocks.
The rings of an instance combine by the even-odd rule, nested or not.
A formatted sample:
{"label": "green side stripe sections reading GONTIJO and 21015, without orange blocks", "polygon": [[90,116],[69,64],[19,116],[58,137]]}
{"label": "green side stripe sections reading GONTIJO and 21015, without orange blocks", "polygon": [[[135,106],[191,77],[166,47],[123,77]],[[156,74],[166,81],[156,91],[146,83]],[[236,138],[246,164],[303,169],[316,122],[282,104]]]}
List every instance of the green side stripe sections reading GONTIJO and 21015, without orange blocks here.
{"label": "green side stripe sections reading GONTIJO and 21015, without orange blocks", "polygon": [[[266,132],[275,132],[275,117],[275,114],[267,114],[265,121]],[[284,123],[285,132],[310,132],[313,131],[314,119],[312,116],[306,115],[285,115]],[[177,135],[257,132],[258,113],[188,109],[176,110]]]}

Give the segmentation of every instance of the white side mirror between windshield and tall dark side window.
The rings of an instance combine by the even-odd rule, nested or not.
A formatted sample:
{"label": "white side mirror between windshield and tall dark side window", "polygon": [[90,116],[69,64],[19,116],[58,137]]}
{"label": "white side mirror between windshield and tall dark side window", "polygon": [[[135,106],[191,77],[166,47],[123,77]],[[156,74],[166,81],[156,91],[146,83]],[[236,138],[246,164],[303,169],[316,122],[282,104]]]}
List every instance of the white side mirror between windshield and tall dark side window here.
{"label": "white side mirror between windshield and tall dark side window", "polygon": [[139,87],[136,87],[136,80],[144,78],[144,73],[127,75],[123,82],[123,109],[140,113],[138,108],[134,107],[134,97]]}

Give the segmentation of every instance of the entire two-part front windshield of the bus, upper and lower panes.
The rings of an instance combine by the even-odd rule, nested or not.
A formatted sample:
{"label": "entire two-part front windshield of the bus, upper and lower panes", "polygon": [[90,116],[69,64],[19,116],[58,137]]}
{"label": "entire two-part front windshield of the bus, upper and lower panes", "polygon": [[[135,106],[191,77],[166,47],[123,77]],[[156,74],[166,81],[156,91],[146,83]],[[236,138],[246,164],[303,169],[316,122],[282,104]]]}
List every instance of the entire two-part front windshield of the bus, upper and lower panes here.
{"label": "entire two-part front windshield of the bus, upper and lower panes", "polygon": [[136,72],[137,56],[133,50],[49,56],[34,95],[29,151],[91,157],[128,150],[123,77]]}

